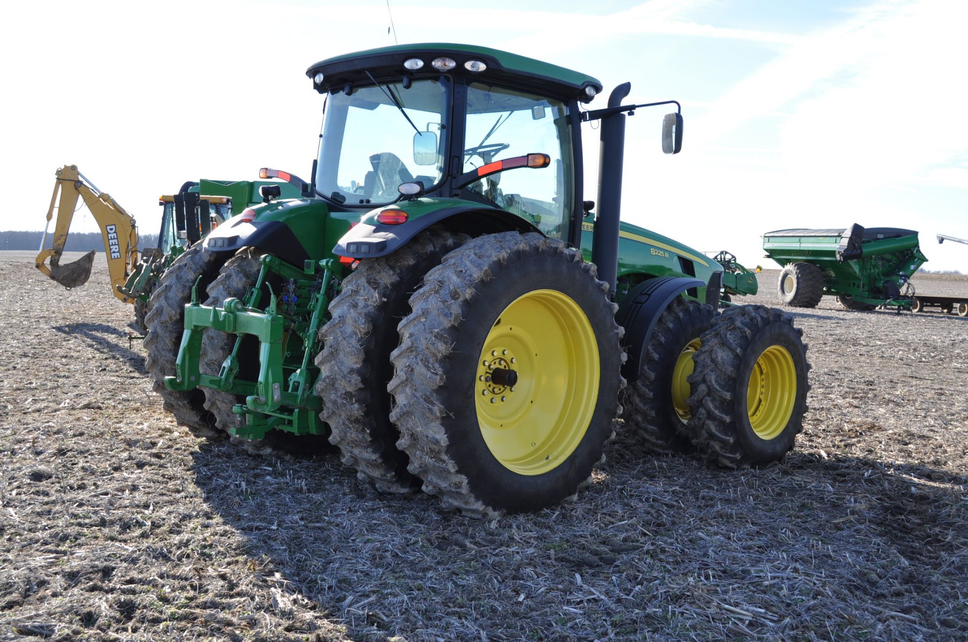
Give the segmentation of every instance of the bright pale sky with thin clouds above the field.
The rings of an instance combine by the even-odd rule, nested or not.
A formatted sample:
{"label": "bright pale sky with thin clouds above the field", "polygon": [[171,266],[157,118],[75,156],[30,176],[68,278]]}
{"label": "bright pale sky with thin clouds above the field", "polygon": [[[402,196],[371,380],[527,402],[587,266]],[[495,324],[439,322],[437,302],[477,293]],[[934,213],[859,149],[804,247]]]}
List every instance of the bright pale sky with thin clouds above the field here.
{"label": "bright pale sky with thin clouds above the field", "polygon": [[[196,0],[13,3],[0,40],[0,229],[43,229],[54,171],[74,163],[154,233],[187,180],[309,177],[322,98],[306,69],[394,44],[505,49],[602,80],[634,102],[622,219],[747,267],[777,267],[786,227],[921,232],[931,270],[968,273],[968,2],[962,0]],[[389,33],[388,33],[389,30]],[[394,33],[395,32],[395,33]],[[606,96],[590,103],[604,106]],[[594,200],[597,131],[585,141]],[[16,205],[11,203],[17,200]],[[84,211],[72,230],[95,231]]]}

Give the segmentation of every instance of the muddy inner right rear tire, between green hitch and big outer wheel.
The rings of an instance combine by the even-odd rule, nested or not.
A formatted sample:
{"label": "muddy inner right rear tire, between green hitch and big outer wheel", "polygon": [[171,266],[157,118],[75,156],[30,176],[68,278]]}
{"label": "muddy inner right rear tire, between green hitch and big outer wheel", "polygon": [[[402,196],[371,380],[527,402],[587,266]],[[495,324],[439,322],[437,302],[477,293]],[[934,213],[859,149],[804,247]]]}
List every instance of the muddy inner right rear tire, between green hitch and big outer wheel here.
{"label": "muddy inner right rear tire, between green hitch and big outer wheel", "polygon": [[397,450],[400,431],[390,421],[386,383],[393,377],[390,353],[400,343],[397,324],[409,313],[420,279],[467,240],[429,230],[392,254],[361,261],[343,280],[343,291],[329,305],[331,318],[319,330],[319,418],[329,424],[329,441],[339,447],[343,463],[380,492],[420,487],[407,470],[407,454]]}

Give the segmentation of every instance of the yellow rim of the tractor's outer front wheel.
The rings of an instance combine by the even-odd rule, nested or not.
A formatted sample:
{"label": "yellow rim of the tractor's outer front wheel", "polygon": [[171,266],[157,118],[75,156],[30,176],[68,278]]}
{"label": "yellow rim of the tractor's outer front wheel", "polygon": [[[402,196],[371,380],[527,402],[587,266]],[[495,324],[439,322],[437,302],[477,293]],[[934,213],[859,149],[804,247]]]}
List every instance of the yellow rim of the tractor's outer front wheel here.
{"label": "yellow rim of the tractor's outer front wheel", "polygon": [[763,351],[749,375],[746,412],[753,432],[773,439],[790,422],[797,400],[797,366],[786,348],[771,345]]}

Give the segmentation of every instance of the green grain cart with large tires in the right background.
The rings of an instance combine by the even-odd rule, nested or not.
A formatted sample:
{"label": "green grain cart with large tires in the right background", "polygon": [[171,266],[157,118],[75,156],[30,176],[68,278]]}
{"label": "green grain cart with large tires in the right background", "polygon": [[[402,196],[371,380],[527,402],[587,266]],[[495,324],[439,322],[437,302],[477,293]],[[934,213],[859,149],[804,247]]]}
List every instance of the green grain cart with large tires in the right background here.
{"label": "green grain cart with large tires in the right background", "polygon": [[918,232],[898,227],[781,229],[763,235],[767,256],[783,266],[777,283],[786,306],[815,307],[824,295],[848,309],[911,309],[910,278],[927,258]]}

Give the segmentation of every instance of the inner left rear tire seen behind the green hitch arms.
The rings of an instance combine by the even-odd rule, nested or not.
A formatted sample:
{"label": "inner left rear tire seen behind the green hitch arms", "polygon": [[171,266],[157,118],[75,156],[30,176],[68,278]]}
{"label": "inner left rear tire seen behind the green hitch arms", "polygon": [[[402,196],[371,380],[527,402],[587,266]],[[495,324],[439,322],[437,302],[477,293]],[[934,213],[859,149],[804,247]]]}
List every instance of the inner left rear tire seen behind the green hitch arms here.
{"label": "inner left rear tire seen behind the green hitch arms", "polygon": [[[204,306],[224,306],[227,299],[244,299],[249,289],[256,284],[261,266],[258,259],[262,252],[256,248],[243,248],[226,261],[219,272],[219,276],[208,286],[208,300]],[[201,350],[198,354],[198,371],[201,374],[218,375],[223,362],[235,347],[238,335],[208,330],[202,336]],[[245,346],[243,346],[244,348]],[[243,350],[239,350],[240,353]],[[256,350],[247,350],[239,358],[257,354]],[[239,378],[245,378],[239,372]],[[245,397],[226,393],[214,388],[203,388],[205,394],[205,409],[212,413],[215,425],[228,432],[229,428],[238,427],[241,422],[239,416],[232,412],[236,403],[245,403]],[[259,440],[251,440],[259,441]]]}

